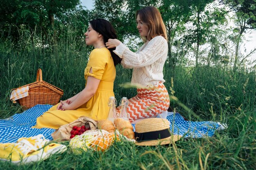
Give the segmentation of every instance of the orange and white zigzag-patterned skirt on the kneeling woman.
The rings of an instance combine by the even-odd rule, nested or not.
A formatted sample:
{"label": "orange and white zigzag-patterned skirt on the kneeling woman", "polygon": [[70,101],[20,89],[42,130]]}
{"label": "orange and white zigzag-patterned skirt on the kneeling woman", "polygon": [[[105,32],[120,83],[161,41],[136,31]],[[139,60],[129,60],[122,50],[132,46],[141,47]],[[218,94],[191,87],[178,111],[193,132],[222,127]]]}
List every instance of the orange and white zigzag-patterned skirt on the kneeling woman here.
{"label": "orange and white zigzag-patterned skirt on the kneeling woman", "polygon": [[[140,118],[155,117],[170,106],[168,91],[163,82],[148,85],[147,88],[137,88],[137,95],[128,100],[128,118],[134,121]],[[117,107],[117,113],[121,107]]]}

